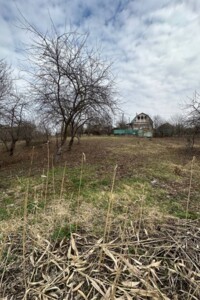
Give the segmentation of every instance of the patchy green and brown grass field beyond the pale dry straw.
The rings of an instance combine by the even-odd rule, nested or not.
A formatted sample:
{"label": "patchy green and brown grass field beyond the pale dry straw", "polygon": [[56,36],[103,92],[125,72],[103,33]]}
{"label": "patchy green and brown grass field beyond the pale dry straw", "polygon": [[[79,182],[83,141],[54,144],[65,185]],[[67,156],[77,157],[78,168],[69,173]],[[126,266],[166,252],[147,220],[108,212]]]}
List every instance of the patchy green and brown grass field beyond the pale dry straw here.
{"label": "patchy green and brown grass field beyond the pale dry straw", "polygon": [[53,205],[54,200],[73,208],[78,198],[82,205],[106,209],[116,166],[113,193],[117,214],[126,205],[136,211],[135,206],[142,201],[149,212],[185,218],[190,192],[188,218],[200,216],[198,145],[194,153],[187,153],[183,139],[89,137],[83,138],[80,145],[75,144],[72,152],[64,153],[59,163],[52,159],[54,147],[50,144],[48,154],[45,144],[34,149],[19,145],[12,159],[2,155],[1,219],[20,216],[27,185],[30,213],[39,213],[44,206]]}

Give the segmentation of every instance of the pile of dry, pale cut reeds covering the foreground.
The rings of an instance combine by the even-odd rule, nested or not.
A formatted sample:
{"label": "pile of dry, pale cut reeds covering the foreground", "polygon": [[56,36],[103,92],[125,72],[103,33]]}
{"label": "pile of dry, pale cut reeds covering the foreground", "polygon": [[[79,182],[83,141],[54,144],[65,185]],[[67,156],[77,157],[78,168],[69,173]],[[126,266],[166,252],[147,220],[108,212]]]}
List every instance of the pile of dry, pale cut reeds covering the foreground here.
{"label": "pile of dry, pale cut reeds covering the foreground", "polygon": [[200,299],[200,226],[169,219],[51,242],[29,228],[10,234],[1,258],[0,299]]}

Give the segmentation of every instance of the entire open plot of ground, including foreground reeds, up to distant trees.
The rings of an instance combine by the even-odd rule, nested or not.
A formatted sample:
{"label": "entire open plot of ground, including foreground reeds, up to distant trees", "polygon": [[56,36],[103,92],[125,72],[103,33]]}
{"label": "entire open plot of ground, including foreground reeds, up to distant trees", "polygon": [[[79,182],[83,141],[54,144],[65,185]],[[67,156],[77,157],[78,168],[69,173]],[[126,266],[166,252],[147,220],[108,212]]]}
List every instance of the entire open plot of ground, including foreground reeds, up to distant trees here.
{"label": "entire open plot of ground, including foreground reeds, up to distant trees", "polygon": [[0,296],[199,299],[200,144],[84,137],[54,154],[2,152]]}

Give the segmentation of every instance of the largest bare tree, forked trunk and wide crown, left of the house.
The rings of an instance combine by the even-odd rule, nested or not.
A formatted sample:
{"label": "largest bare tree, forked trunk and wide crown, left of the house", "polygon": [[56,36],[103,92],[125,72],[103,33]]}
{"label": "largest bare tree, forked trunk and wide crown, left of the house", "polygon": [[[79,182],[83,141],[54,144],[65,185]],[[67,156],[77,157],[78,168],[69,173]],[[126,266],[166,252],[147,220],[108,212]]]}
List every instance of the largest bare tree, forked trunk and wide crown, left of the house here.
{"label": "largest bare tree, forked trunk and wide crown, left of the house", "polygon": [[44,117],[60,124],[61,152],[69,128],[71,148],[75,133],[91,113],[114,111],[111,64],[88,50],[87,35],[59,35],[55,30],[42,34],[31,25],[27,29],[35,38],[29,51],[32,95]]}

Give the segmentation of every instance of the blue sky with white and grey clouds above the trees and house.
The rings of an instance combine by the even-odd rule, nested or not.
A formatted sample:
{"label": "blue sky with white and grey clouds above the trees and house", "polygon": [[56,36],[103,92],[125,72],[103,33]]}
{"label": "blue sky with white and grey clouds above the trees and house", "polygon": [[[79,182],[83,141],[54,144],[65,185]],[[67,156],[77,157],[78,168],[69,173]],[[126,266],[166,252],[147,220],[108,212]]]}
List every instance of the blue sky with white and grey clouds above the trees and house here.
{"label": "blue sky with white and grey clouds above the trees and house", "polygon": [[0,59],[16,73],[29,43],[20,13],[42,32],[50,16],[60,32],[89,32],[114,62],[127,118],[169,119],[200,91],[200,0],[0,0]]}

